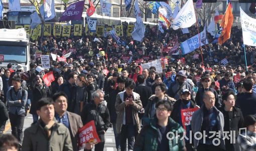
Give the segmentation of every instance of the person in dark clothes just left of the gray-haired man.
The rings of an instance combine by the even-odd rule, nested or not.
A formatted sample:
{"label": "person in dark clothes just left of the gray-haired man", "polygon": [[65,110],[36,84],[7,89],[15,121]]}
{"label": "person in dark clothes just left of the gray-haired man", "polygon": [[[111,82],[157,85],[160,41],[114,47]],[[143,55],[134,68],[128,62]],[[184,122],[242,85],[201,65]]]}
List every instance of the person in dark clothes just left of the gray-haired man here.
{"label": "person in dark clothes just left of the gray-haired man", "polygon": [[88,93],[86,87],[86,75],[81,73],[76,78],[76,87],[72,97],[71,112],[80,115],[84,104],[88,103]]}

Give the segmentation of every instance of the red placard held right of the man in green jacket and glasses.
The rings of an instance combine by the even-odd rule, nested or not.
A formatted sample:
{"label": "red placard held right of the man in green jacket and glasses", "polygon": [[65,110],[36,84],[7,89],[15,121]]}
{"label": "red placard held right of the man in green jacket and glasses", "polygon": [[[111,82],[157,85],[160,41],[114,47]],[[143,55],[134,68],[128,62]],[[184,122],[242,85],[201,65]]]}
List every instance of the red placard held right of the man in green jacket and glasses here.
{"label": "red placard held right of the man in green jacket and glasses", "polygon": [[193,113],[199,108],[186,108],[181,109],[181,120],[183,128],[186,130],[186,126],[190,125]]}

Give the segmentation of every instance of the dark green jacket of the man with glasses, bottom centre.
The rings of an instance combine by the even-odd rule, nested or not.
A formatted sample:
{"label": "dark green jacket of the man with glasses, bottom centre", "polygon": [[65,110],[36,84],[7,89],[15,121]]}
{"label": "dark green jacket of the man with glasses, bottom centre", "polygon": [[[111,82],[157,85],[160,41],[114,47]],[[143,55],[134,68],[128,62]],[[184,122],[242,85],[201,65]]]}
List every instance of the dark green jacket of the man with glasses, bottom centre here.
{"label": "dark green jacket of the man with glasses, bottom centre", "polygon": [[[175,142],[175,138],[173,140],[169,140],[169,150],[176,151],[176,150],[186,150],[185,141],[180,140],[183,135],[184,129],[180,124],[175,122],[171,117],[168,119],[168,124],[170,130],[175,133],[178,131],[178,142]],[[141,133],[138,135],[135,144],[134,144],[134,151],[145,150],[145,151],[156,151],[159,144],[159,132],[157,130],[157,117],[154,118],[146,118],[145,119],[145,126],[143,126]],[[171,137],[171,135],[169,135]]]}

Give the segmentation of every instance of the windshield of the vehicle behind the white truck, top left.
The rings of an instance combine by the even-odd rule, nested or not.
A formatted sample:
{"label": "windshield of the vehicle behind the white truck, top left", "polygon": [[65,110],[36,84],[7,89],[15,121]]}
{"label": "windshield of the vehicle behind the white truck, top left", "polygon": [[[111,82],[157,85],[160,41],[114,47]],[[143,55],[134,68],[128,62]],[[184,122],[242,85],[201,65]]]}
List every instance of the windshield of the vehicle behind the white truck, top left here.
{"label": "windshield of the vehicle behind the white truck, top left", "polygon": [[16,24],[31,24],[30,11],[9,11],[8,20],[14,20]]}

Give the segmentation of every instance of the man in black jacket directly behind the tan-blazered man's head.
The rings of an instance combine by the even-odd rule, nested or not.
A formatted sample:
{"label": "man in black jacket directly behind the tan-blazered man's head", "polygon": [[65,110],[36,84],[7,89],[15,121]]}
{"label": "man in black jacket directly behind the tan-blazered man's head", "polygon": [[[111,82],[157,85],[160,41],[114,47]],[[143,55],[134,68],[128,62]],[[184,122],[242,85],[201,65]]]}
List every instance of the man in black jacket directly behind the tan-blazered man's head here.
{"label": "man in black jacket directly behind the tan-blazered man's head", "polygon": [[66,93],[66,95],[68,96],[68,111],[71,111],[71,102],[72,102],[72,96],[73,96],[73,91],[75,89],[75,82],[77,79],[77,73],[76,72],[70,72],[68,74],[68,80],[61,84],[59,86],[58,92],[59,91],[64,91]]}

